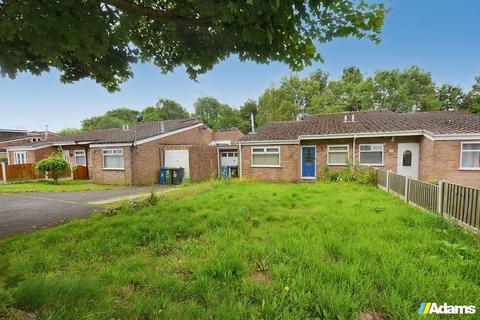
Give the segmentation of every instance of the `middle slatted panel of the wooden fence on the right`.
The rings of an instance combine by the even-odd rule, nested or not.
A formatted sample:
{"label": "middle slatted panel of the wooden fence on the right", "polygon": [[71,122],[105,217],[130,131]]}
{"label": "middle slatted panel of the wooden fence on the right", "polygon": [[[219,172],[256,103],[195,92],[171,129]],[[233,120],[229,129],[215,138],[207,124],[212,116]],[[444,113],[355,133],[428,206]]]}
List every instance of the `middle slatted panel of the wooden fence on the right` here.
{"label": "middle slatted panel of the wooden fence on the right", "polygon": [[409,179],[408,201],[426,210],[437,212],[438,186]]}

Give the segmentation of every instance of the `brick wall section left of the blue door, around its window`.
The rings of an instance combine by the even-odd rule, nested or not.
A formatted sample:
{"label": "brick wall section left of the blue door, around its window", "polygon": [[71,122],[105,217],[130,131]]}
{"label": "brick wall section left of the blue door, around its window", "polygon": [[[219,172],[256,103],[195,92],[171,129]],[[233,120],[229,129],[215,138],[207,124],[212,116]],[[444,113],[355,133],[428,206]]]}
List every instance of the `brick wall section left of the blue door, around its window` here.
{"label": "brick wall section left of the blue door, around its window", "polygon": [[[280,167],[251,167],[252,146],[242,146],[242,177],[262,181],[297,181],[300,176],[300,147],[298,145],[272,145],[280,147]],[[239,155],[240,156],[240,155]]]}

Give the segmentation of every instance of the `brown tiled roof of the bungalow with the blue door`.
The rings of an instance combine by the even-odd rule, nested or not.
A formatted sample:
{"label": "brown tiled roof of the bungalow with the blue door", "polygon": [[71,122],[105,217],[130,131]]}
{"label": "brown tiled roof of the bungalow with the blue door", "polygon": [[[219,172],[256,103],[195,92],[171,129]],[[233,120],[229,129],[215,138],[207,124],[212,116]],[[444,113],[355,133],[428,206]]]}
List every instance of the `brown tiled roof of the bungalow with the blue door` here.
{"label": "brown tiled roof of the bungalow with the blue door", "polygon": [[[355,122],[345,122],[345,117]],[[460,111],[395,113],[357,111],[307,116],[301,121],[270,122],[241,141],[296,140],[306,135],[428,131],[431,134],[480,134],[480,115]]]}

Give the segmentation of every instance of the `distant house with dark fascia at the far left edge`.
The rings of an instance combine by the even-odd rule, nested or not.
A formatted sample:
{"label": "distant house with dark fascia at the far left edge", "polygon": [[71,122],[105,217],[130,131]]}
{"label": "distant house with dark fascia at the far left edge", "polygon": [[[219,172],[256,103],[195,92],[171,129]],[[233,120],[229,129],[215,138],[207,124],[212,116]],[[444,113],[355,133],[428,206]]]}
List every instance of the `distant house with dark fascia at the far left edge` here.
{"label": "distant house with dark fascia at the far left edge", "polygon": [[6,147],[8,146],[45,141],[56,137],[59,137],[59,135],[50,131],[0,129],[0,159],[7,158]]}

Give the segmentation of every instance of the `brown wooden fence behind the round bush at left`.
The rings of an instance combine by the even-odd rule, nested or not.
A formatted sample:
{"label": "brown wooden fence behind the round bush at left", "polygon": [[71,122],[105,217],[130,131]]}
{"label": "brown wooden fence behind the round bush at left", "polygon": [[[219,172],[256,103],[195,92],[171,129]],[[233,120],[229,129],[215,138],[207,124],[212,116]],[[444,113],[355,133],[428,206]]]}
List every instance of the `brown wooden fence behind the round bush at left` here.
{"label": "brown wooden fence behind the round bush at left", "polygon": [[[85,166],[72,167],[72,171],[67,172],[63,178],[73,178],[74,180],[88,179],[88,169]],[[38,179],[45,179],[45,176],[39,176],[35,173],[35,164],[0,164],[0,183]]]}

